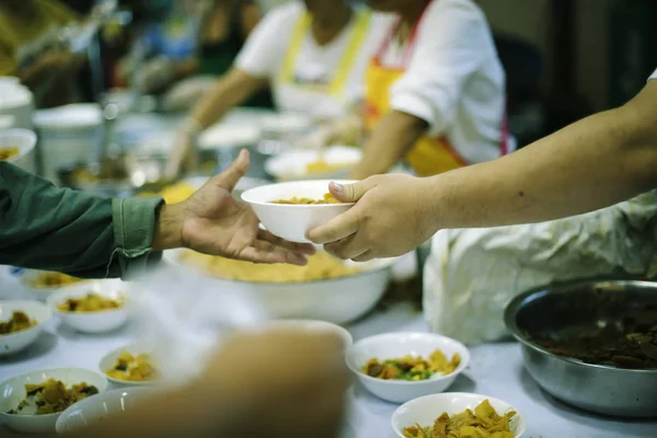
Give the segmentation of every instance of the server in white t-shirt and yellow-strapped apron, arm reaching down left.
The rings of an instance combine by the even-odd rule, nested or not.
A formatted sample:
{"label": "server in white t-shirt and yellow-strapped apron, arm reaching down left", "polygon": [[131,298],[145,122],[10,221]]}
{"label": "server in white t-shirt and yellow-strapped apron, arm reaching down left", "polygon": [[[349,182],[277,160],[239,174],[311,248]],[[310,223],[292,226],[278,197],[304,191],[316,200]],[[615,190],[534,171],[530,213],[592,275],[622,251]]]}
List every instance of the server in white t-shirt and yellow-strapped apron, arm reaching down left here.
{"label": "server in white t-shirt and yellow-strapped apron, arm reaching down left", "polygon": [[391,22],[347,0],[291,1],[268,12],[180,130],[169,176],[203,129],[267,85],[280,112],[315,119],[348,114],[364,99],[365,70]]}

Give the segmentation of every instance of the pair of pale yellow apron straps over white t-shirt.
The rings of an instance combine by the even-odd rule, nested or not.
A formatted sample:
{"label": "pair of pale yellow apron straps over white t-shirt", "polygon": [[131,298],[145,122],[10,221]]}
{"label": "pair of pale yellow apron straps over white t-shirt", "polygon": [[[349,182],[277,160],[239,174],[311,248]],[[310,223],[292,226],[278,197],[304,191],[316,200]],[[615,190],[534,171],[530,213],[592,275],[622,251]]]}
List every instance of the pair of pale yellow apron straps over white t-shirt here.
{"label": "pair of pale yellow apron straps over white t-shirt", "polygon": [[[368,10],[360,10],[357,12],[356,24],[354,25],[354,30],[351,32],[351,37],[349,39],[349,44],[346,47],[345,53],[337,66],[335,74],[333,76],[333,80],[328,85],[328,93],[338,96],[343,93],[345,89],[345,84],[349,78],[349,71],[351,71],[351,67],[354,62],[358,59],[358,53],[360,47],[362,47],[362,43],[367,38],[369,25],[370,25],[371,12]],[[285,59],[283,61],[283,66],[280,69],[280,81],[283,83],[292,82],[292,78],[295,74],[295,66],[297,65],[297,57],[301,51],[301,45],[303,44],[303,37],[310,30],[310,25],[312,23],[312,16],[310,13],[306,12],[303,15],[299,16],[297,23],[295,24],[295,28],[292,30],[292,36],[290,37],[290,43],[288,45],[288,49],[285,55]],[[316,87],[310,87],[318,89]]]}

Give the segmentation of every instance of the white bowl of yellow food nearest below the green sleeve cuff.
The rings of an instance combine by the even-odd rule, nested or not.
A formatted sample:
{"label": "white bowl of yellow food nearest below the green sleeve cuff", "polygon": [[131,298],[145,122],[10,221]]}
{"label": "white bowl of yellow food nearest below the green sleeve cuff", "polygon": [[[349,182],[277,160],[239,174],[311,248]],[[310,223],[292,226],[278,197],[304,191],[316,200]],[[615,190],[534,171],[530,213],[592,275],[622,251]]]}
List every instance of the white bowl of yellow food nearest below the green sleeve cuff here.
{"label": "white bowl of yellow food nearest below the green sleeve cuff", "polygon": [[90,281],[85,288],[50,295],[48,306],[68,326],[82,333],[105,333],[129,318],[125,285],[120,280]]}

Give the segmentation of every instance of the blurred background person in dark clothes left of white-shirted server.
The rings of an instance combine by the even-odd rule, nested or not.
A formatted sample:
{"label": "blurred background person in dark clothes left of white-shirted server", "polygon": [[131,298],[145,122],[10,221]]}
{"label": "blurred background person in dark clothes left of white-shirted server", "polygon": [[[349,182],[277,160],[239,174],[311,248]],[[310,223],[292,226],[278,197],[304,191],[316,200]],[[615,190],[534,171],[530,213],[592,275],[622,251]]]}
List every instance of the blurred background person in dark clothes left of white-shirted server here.
{"label": "blurred background person in dark clothes left of white-shirted server", "polygon": [[135,66],[128,58],[123,79],[134,80],[142,93],[173,88],[171,106],[185,107],[228,71],[260,19],[252,0],[178,0],[142,36],[150,59]]}

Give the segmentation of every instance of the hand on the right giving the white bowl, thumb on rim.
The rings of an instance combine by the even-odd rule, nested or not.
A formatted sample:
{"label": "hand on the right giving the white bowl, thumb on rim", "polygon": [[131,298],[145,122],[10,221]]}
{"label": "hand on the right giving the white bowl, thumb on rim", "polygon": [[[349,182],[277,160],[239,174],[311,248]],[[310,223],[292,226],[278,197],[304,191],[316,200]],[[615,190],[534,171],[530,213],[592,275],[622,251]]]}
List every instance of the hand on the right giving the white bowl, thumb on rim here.
{"label": "hand on the right giving the white bowl, thumb on rim", "polygon": [[330,189],[338,200],[356,205],[310,230],[308,238],[336,257],[367,262],[403,255],[436,232],[431,180],[388,174],[344,186],[331,183]]}

